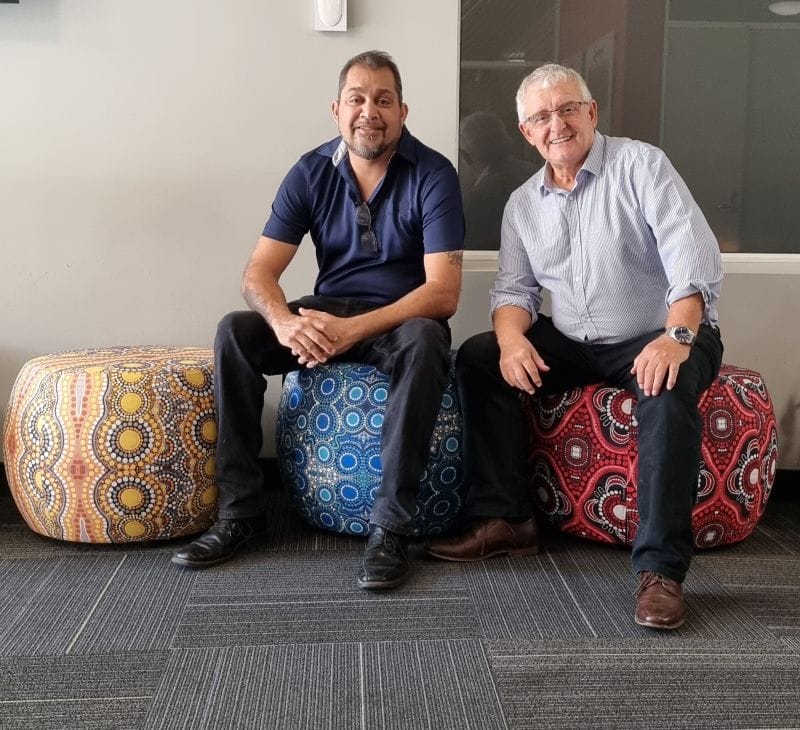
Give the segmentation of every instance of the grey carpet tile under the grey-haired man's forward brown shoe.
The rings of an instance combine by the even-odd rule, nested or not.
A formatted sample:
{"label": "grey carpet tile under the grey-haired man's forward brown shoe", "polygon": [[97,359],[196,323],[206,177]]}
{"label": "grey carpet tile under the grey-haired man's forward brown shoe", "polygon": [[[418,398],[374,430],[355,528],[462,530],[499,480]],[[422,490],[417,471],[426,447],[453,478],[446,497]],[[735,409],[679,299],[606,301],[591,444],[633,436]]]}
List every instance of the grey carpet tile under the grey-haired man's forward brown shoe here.
{"label": "grey carpet tile under the grey-haired man's forward brown shoe", "polygon": [[[487,639],[634,637],[636,586],[626,550],[564,539],[540,555],[463,566]],[[693,566],[684,631],[707,639],[772,637],[713,574]]]}

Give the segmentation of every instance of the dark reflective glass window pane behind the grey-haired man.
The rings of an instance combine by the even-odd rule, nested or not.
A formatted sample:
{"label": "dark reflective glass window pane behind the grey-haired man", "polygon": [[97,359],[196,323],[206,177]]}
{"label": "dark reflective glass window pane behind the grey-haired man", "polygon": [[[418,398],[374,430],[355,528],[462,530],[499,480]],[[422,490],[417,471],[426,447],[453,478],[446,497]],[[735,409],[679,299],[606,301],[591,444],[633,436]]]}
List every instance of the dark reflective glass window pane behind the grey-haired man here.
{"label": "dark reflective glass window pane behind the grey-haired man", "polygon": [[[509,140],[509,175],[520,159],[538,167],[514,94],[533,68],[558,61],[587,80],[601,132],[664,149],[723,251],[800,253],[800,16],[768,5],[461,0],[462,137],[470,115],[491,112]],[[467,162],[463,139],[460,148],[468,247],[496,249],[499,217],[490,225],[497,214],[480,196],[466,200],[485,165]]]}

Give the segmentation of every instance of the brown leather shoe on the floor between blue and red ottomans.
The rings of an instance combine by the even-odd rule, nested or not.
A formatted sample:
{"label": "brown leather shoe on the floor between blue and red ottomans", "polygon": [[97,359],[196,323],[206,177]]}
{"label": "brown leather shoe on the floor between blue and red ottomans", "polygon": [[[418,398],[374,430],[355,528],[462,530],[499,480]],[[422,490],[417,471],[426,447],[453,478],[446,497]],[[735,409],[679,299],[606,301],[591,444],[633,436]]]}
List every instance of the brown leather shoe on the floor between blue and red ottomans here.
{"label": "brown leather shoe on the floor between blue and red ottomans", "polygon": [[536,555],[539,540],[531,517],[518,525],[501,517],[484,517],[467,532],[434,540],[426,545],[429,555],[441,560],[484,560],[493,555]]}

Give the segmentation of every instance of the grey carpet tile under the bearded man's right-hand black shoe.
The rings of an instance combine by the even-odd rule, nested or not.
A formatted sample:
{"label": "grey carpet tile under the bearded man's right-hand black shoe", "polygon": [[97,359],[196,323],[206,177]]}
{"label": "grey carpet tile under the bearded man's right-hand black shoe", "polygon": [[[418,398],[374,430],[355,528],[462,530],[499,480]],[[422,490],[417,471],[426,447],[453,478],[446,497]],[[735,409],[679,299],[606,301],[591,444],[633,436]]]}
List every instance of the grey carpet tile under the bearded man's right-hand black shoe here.
{"label": "grey carpet tile under the bearded man's right-hand black shoe", "polygon": [[415,561],[408,583],[386,592],[356,587],[358,560],[349,553],[245,557],[198,575],[173,646],[480,635],[462,576],[450,566]]}

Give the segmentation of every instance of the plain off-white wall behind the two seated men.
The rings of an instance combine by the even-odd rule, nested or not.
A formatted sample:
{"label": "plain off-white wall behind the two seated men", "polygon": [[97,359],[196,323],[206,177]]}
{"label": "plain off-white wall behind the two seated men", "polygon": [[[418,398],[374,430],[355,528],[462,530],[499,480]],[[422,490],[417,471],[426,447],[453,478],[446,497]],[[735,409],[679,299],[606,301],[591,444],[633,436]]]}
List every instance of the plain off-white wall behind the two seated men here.
{"label": "plain off-white wall behind the two seated men", "polygon": [[[242,268],[280,180],[335,135],[342,63],[392,53],[409,128],[456,160],[459,0],[350,0],[316,33],[311,0],[21,0],[0,4],[0,417],[46,352],[210,346],[243,306]],[[491,267],[468,262],[455,342],[489,326]],[[725,360],[760,370],[800,468],[800,273],[726,278]],[[310,247],[287,294],[310,288]],[[265,408],[273,453],[278,387]]]}

